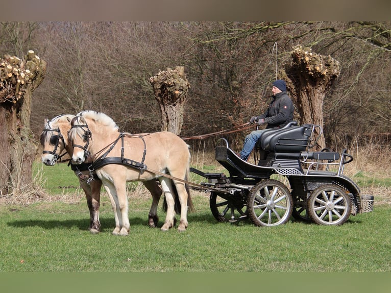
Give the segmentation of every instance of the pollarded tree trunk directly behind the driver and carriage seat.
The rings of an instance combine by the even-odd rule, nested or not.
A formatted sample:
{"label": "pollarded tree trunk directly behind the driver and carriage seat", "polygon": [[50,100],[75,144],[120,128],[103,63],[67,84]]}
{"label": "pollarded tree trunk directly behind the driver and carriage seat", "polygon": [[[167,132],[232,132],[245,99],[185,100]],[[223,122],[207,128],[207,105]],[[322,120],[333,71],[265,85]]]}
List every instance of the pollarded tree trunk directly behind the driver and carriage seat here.
{"label": "pollarded tree trunk directly behind the driver and carriage seat", "polygon": [[[339,76],[338,61],[330,56],[311,52],[310,48],[297,46],[291,53],[292,63],[280,71],[287,89],[297,106],[300,123],[311,123],[323,128],[323,101],[334,80]],[[315,129],[316,150],[325,148],[325,138]]]}

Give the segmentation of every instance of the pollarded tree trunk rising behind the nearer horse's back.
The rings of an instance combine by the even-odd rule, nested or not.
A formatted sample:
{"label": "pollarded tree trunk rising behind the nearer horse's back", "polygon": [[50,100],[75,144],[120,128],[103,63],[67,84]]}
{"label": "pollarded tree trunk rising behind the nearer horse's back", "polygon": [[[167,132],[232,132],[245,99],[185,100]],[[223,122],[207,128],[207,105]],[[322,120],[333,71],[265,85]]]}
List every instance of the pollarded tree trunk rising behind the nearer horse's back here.
{"label": "pollarded tree trunk rising behind the nearer horse's back", "polygon": [[190,84],[184,74],[184,67],[167,68],[150,78],[155,99],[161,110],[161,130],[180,134],[183,113]]}

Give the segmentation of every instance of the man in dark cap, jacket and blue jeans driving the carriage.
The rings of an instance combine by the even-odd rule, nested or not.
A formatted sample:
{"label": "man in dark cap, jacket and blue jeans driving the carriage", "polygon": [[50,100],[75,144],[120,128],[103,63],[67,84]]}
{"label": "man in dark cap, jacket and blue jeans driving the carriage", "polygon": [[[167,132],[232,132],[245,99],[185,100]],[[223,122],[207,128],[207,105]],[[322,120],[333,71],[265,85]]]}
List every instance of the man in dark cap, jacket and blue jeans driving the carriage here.
{"label": "man in dark cap, jacket and blue jeans driving the carriage", "polygon": [[251,151],[264,131],[272,128],[281,128],[293,119],[295,107],[286,93],[285,81],[280,79],[274,81],[272,93],[273,99],[267,110],[259,116],[252,116],[250,118],[250,123],[252,124],[267,124],[267,126],[265,129],[254,130],[246,136],[243,148],[239,152],[242,160],[247,161]]}

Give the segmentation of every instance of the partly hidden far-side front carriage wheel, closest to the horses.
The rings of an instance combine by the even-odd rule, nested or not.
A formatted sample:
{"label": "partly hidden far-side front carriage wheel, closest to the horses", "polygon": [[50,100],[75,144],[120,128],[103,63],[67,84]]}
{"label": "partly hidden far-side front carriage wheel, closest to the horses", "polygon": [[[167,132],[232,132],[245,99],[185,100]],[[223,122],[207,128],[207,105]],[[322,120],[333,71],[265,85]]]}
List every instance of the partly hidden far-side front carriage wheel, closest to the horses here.
{"label": "partly hidden far-side front carriage wheel, closest to the horses", "polygon": [[209,197],[210,210],[218,222],[234,223],[239,219],[247,218],[244,198],[244,191],[236,191],[234,194],[221,194],[212,191]]}

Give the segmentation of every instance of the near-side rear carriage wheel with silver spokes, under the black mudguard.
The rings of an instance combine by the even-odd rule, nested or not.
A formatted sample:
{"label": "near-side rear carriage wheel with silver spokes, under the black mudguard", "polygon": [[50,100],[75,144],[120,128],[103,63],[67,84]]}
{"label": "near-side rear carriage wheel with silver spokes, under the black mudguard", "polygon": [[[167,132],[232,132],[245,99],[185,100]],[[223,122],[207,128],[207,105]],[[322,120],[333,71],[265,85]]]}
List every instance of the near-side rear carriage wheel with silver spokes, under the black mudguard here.
{"label": "near-side rear carriage wheel with silver spokes, under the black mudguard", "polygon": [[341,187],[328,184],[313,190],[307,202],[312,221],[319,225],[342,225],[350,216],[352,203]]}

